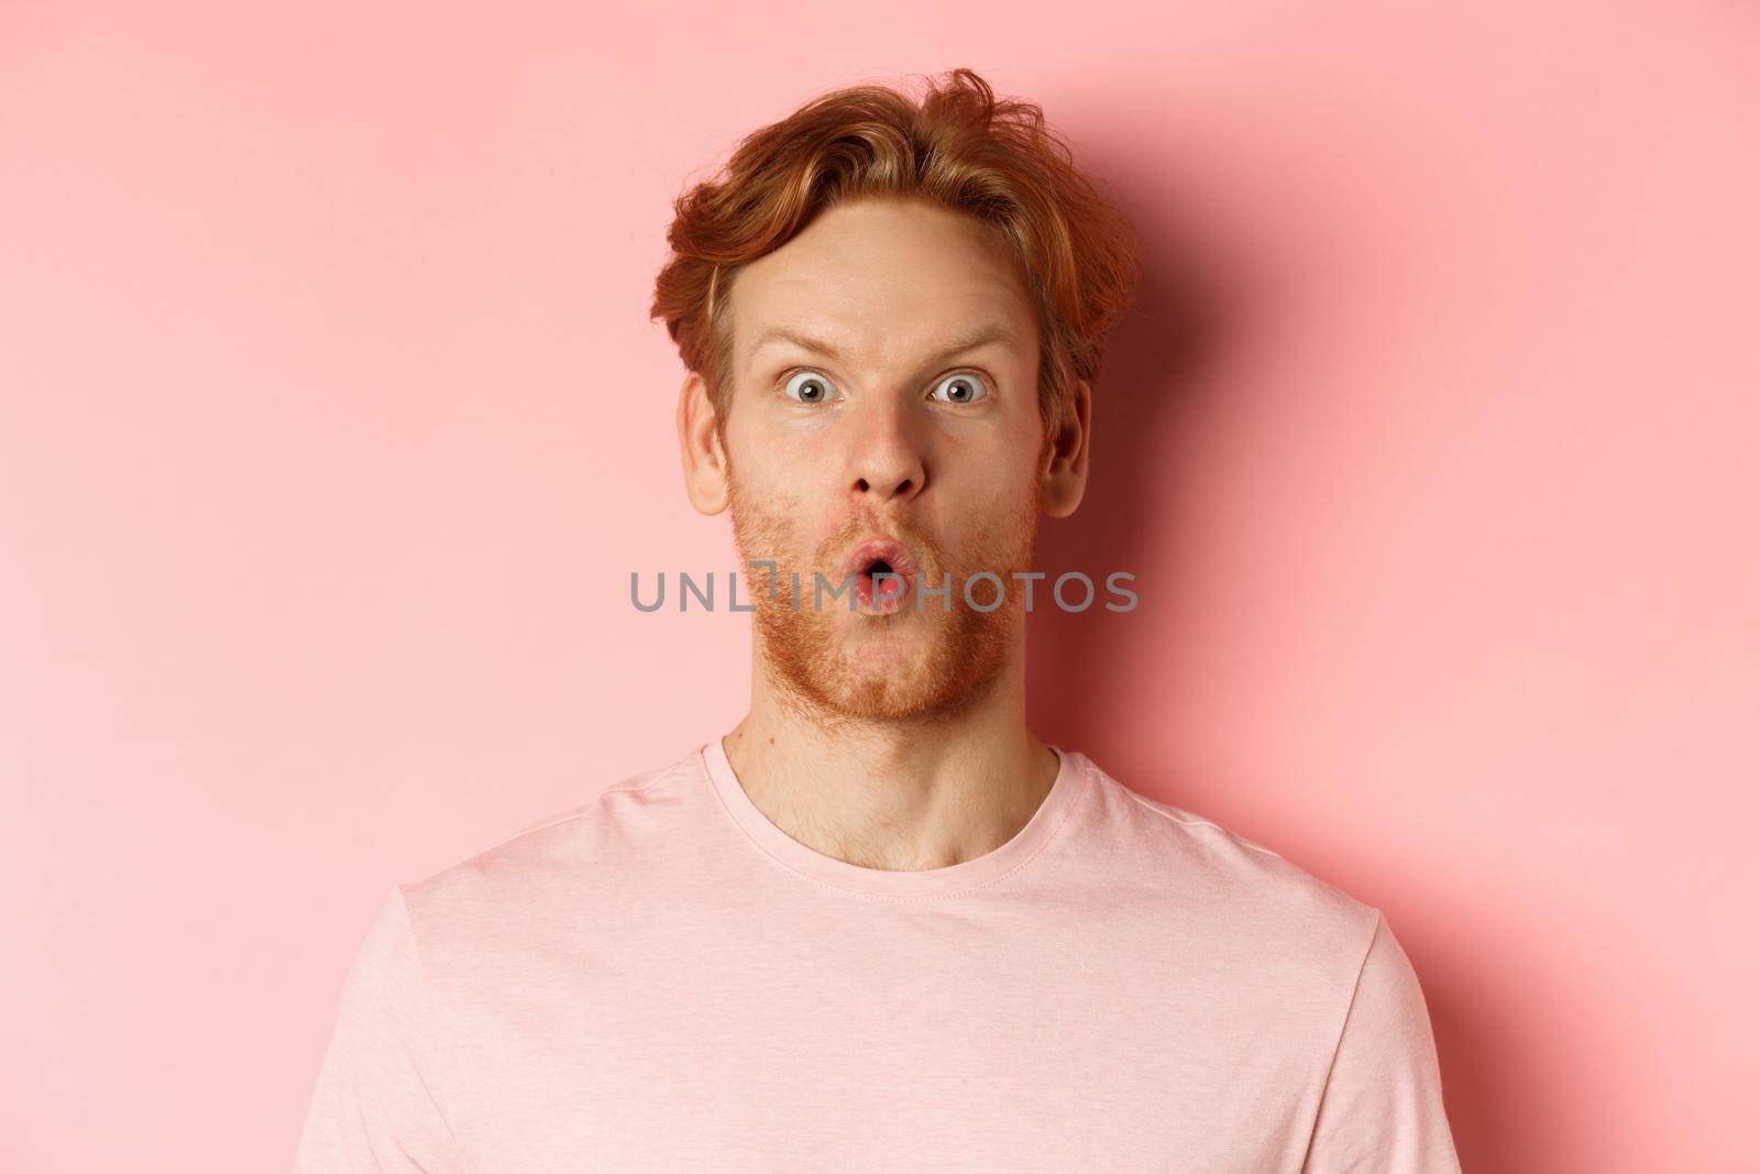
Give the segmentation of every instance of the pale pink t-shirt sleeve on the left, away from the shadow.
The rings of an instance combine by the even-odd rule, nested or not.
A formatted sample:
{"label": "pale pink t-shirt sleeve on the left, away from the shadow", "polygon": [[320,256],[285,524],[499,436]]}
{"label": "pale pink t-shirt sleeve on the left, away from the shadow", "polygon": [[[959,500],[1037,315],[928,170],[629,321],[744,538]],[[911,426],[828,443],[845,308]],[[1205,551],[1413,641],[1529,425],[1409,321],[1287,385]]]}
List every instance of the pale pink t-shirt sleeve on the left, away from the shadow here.
{"label": "pale pink t-shirt sleeve on the left, away from the shadow", "polygon": [[424,1000],[398,887],[343,982],[294,1174],[463,1174],[426,1061]]}

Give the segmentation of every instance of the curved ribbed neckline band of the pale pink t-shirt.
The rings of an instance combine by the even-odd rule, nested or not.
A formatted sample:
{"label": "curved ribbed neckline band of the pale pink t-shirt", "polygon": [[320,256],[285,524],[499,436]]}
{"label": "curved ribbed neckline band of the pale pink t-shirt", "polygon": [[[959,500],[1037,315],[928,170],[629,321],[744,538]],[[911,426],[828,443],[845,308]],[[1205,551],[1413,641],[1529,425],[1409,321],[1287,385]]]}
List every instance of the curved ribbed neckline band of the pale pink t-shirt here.
{"label": "curved ribbed neckline band of the pale pink t-shirt", "polygon": [[970,861],[922,869],[868,868],[810,848],[773,824],[752,803],[752,796],[746,794],[734,774],[734,766],[729,762],[727,748],[720,737],[713,737],[702,745],[697,750],[697,757],[727,813],[759,848],[778,862],[848,892],[926,898],[964,892],[998,880],[1026,864],[1051,841],[1074,808],[1075,794],[1086,778],[1077,752],[1063,750],[1061,746],[1051,746],[1051,750],[1058,755],[1058,774],[1051,783],[1051,790],[1040,801],[1038,810],[1033,811],[1033,817],[1021,825],[1021,831],[1012,840]]}

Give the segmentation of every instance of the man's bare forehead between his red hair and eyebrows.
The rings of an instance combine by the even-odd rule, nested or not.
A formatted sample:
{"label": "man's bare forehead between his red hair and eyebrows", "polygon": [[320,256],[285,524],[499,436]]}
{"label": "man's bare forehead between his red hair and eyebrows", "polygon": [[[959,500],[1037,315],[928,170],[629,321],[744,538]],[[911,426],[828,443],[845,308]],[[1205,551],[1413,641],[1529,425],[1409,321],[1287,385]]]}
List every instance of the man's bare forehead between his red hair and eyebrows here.
{"label": "man's bare forehead between his red hair and eyebrows", "polygon": [[920,201],[862,199],[820,213],[739,271],[729,294],[736,363],[773,327],[880,357],[935,349],[975,324],[1033,338],[1026,271],[991,225]]}

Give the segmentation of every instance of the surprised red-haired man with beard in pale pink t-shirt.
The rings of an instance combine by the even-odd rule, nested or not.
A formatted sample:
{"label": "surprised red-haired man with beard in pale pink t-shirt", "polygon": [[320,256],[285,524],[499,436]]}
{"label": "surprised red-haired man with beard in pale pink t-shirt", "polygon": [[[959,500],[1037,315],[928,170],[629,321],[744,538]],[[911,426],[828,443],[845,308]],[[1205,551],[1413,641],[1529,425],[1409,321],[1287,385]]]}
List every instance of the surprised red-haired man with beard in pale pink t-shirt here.
{"label": "surprised red-haired man with beard in pale pink t-shirt", "polygon": [[676,211],[750,713],[391,894],[297,1169],[1457,1170],[1378,910],[1026,727],[1137,283],[1037,107],[832,93]]}

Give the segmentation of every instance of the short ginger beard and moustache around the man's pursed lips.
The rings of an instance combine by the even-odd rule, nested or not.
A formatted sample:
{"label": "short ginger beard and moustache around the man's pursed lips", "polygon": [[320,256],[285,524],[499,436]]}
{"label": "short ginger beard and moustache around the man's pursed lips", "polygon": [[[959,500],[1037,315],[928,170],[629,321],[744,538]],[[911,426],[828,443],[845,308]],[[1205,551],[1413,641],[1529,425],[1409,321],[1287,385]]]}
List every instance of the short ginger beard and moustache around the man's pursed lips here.
{"label": "short ginger beard and moustache around the man's pursed lips", "polygon": [[[815,716],[905,720],[952,716],[977,701],[1001,674],[1016,642],[1026,583],[1016,570],[1033,567],[1042,484],[1023,493],[1021,512],[979,532],[994,535],[972,549],[950,553],[912,526],[882,526],[850,516],[843,526],[803,556],[794,521],[771,512],[744,493],[729,463],[729,509],[734,544],[746,563],[753,632],[769,678]],[[838,570],[850,546],[864,533],[892,533],[919,560],[917,584],[905,605],[887,616],[850,613]],[[774,563],[774,569],[752,563]],[[970,607],[964,584],[989,570],[1001,579],[1003,602],[993,611]],[[815,574],[825,591],[815,605]],[[799,579],[796,579],[796,576]],[[950,579],[945,579],[950,576]],[[794,583],[799,581],[799,607]],[[949,586],[947,600],[924,595],[926,586]],[[774,590],[773,590],[774,588]],[[972,584],[972,598],[989,607],[998,595],[989,577]]]}

